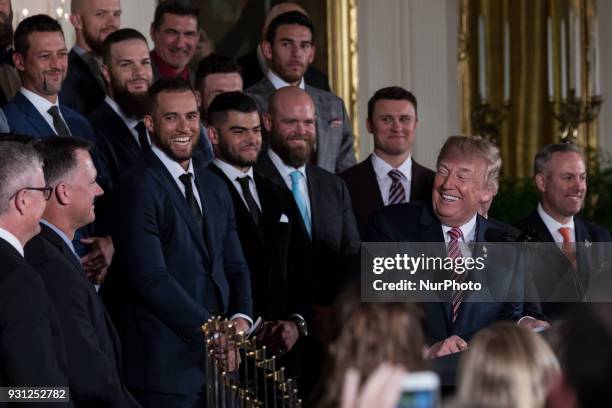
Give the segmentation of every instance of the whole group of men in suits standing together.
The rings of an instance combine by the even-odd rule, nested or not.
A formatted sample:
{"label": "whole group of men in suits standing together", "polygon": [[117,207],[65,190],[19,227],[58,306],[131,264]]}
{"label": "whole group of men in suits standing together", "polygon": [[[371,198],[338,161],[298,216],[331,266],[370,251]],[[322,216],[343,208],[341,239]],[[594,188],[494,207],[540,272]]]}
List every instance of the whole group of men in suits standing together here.
{"label": "whole group of men in suits standing together", "polygon": [[[49,16],[11,30],[1,68],[20,85],[0,84],[1,386],[69,386],[76,407],[203,406],[200,326],[225,316],[248,331],[261,317],[260,337],[306,395],[362,240],[450,251],[491,228],[517,233],[479,214],[497,191],[499,150],[453,136],[435,172],[421,166],[417,100],[403,88],[370,99],[374,151],[356,164],[344,103],[310,67],[315,27],[299,6],[270,10],[242,67],[213,54],[194,72],[198,15],[186,0],[160,3],[152,50],[120,28],[119,0],[72,1],[70,51]],[[534,180],[540,204],[518,227],[562,244],[551,256],[571,279],[553,281],[579,301],[589,265],[569,244],[610,241],[577,215],[580,150],[544,147]],[[464,350],[496,320],[537,328],[563,313],[547,309],[469,293],[425,305],[427,355]],[[239,364],[235,349],[218,353]]]}

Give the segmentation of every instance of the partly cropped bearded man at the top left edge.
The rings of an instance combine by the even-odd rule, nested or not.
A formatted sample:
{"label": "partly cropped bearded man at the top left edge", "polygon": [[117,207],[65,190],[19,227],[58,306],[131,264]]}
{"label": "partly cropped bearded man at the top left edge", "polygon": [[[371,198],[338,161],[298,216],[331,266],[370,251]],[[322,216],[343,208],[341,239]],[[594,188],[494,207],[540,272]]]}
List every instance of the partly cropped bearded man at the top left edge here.
{"label": "partly cropped bearded man at the top left edge", "polygon": [[13,8],[10,0],[0,0],[0,105],[19,91],[21,81],[13,63]]}

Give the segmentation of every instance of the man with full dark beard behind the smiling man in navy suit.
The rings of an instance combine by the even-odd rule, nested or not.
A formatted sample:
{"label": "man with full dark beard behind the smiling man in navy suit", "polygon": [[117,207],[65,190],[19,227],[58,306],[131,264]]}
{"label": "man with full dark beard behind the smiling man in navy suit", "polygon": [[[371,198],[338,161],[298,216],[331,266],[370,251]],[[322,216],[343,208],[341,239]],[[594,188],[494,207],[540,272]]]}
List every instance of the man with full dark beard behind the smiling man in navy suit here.
{"label": "man with full dark beard behind the smiling man in navy suit", "polygon": [[115,181],[150,149],[142,119],[153,71],[147,40],[131,28],[117,30],[106,38],[103,57],[107,96],[89,115],[89,121]]}

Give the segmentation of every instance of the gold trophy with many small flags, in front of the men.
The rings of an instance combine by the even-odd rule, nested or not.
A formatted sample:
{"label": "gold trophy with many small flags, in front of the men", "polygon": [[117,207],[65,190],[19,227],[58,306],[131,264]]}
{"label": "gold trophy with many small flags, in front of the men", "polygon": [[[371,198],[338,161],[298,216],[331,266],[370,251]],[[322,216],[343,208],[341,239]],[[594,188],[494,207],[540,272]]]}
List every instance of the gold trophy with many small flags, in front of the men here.
{"label": "gold trophy with many small flags, in front of the men", "polygon": [[[256,336],[238,332],[227,319],[213,317],[202,325],[206,351],[207,404],[219,408],[301,408],[296,381]],[[231,352],[239,354],[237,363]],[[219,355],[224,358],[219,359]]]}

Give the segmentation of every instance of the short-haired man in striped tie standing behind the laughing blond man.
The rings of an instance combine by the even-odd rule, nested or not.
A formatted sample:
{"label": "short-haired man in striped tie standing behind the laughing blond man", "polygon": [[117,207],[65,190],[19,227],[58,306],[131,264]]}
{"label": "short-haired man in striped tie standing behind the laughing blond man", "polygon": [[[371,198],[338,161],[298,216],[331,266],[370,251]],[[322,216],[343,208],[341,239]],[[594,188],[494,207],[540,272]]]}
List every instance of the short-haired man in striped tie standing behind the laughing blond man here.
{"label": "short-haired man in striped tie standing behind the laughing blond man", "polygon": [[379,89],[368,101],[366,126],[374,138],[374,153],[340,174],[351,193],[362,238],[375,210],[431,201],[434,172],[412,157],[417,121],[416,98],[399,86]]}

